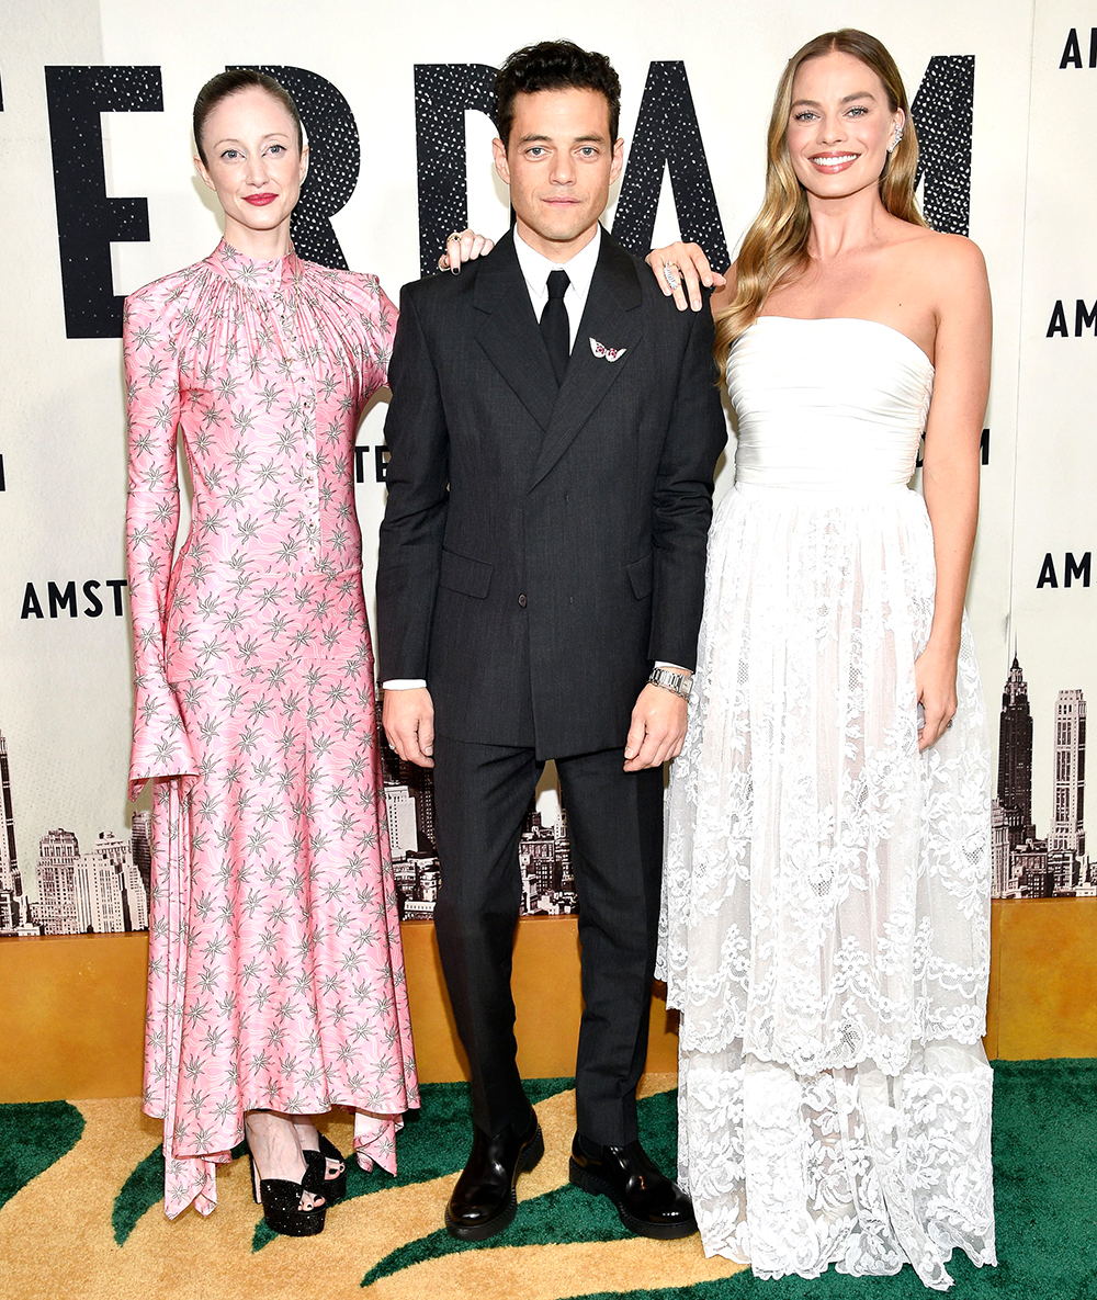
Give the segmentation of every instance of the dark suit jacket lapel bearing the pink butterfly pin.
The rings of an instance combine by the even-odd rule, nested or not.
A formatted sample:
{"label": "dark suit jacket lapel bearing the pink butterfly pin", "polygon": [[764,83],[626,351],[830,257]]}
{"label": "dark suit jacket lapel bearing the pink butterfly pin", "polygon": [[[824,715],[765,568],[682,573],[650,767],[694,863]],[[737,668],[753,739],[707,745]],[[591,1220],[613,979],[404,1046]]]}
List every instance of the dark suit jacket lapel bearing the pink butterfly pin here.
{"label": "dark suit jacket lapel bearing the pink butterfly pin", "polygon": [[[493,254],[494,256],[494,254]],[[489,259],[490,261],[490,259]],[[517,256],[515,256],[517,261]],[[528,295],[525,295],[528,299]],[[643,292],[632,257],[604,230],[598,250],[598,264],[590,281],[586,308],[576,334],[574,347],[552,408],[551,421],[530,480],[530,490],[568,450],[613,384],[634,360],[643,334],[638,311]],[[538,330],[539,335],[539,330]],[[590,346],[594,338],[607,347],[625,351],[616,361],[598,358]],[[542,347],[542,351],[545,348]],[[545,352],[547,358],[547,352]],[[547,363],[546,363],[547,364]],[[551,370],[550,370],[551,377]]]}

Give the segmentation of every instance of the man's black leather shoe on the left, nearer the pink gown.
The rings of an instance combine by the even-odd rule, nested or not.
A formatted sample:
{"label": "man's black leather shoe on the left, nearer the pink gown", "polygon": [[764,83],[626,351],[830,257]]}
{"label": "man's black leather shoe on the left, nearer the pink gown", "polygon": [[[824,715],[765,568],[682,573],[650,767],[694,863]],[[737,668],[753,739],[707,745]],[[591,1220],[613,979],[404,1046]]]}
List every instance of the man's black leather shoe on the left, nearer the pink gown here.
{"label": "man's black leather shoe on the left, nearer the pink gown", "polygon": [[502,1232],[519,1208],[515,1193],[519,1174],[533,1169],[543,1154],[545,1139],[533,1106],[521,1131],[510,1124],[489,1138],[473,1128],[472,1154],[446,1206],[450,1236],[484,1242]]}

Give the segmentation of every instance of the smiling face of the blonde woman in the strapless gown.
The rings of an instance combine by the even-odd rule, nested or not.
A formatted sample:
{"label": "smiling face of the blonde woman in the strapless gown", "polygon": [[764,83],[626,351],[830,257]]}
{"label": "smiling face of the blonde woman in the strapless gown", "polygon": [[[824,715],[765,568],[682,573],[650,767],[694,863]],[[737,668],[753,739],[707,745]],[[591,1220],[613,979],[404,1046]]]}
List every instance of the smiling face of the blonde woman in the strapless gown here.
{"label": "smiling face of the blonde woman in the strapless gown", "polygon": [[808,194],[838,199],[875,186],[902,125],[879,75],[853,55],[823,55],[797,69],[788,143]]}

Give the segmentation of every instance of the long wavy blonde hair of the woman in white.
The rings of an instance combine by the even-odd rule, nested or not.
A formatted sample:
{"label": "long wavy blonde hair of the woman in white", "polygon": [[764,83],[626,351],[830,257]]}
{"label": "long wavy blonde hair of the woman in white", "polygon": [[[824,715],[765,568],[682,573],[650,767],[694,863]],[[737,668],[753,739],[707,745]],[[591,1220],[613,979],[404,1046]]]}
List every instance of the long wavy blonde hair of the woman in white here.
{"label": "long wavy blonde hair of the woman in white", "polygon": [[910,104],[894,58],[884,46],[866,31],[842,27],[827,31],[798,49],[789,60],[769,117],[767,139],[766,198],[742,242],[736,264],[736,296],[730,307],[716,317],[714,352],[720,368],[720,380],[728,361],[732,343],[751,325],[762,311],[768,292],[780,282],[795,280],[808,265],[807,240],[811,234],[811,216],[807,195],[797,179],[789,156],[789,116],[793,101],[793,81],[801,65],[823,55],[853,55],[884,83],[890,112],[901,108],[906,118],[903,136],[880,176],[880,199],[894,217],[924,226],[914,198],[918,174],[918,136],[910,117]]}

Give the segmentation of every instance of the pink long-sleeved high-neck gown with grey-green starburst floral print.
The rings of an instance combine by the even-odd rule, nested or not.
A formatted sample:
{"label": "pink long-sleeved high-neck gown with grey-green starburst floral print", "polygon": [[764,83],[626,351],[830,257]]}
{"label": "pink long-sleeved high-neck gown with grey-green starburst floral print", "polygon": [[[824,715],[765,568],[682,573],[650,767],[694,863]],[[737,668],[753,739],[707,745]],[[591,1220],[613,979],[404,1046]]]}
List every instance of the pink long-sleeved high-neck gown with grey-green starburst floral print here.
{"label": "pink long-sleeved high-neck gown with grey-green starburst floral print", "polygon": [[395,1173],[419,1104],[352,474],[395,325],[372,276],[224,242],[126,299],[143,1105],[169,1217],[213,1209],[246,1110],[351,1106],[359,1161]]}

